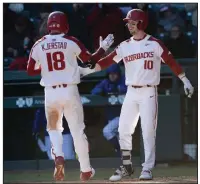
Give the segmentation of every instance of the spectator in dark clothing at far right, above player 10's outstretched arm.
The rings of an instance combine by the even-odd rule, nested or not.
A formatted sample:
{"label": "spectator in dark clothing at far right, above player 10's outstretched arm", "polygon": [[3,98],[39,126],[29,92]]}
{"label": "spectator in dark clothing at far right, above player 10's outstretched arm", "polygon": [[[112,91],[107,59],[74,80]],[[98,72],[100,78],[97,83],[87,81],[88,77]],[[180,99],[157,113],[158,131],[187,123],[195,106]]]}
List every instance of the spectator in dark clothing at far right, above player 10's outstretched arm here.
{"label": "spectator in dark clothing at far right, above player 10's outstretched arm", "polygon": [[194,46],[190,38],[183,34],[179,26],[173,26],[170,37],[165,41],[166,47],[172,52],[175,58],[193,58]]}

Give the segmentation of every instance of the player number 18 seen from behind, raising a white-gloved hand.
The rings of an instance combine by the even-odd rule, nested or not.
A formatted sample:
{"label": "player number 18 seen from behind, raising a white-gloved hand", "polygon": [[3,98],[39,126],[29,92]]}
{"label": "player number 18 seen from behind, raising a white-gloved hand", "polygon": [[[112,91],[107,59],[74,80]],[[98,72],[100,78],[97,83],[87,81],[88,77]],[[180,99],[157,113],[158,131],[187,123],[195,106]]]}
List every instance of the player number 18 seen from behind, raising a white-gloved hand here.
{"label": "player number 18 seen from behind, raising a white-gloved hand", "polygon": [[87,181],[93,177],[94,169],[90,165],[88,141],[84,133],[83,107],[77,87],[80,82],[77,57],[82,62],[98,61],[112,45],[114,37],[110,34],[104,40],[100,39],[99,49],[90,54],[79,40],[67,35],[69,25],[63,12],[56,11],[49,15],[47,29],[49,34],[38,40],[31,49],[27,72],[29,75],[41,73],[40,84],[44,86],[45,92],[47,131],[55,154],[54,179],[64,180],[64,114],[80,162],[80,179]]}

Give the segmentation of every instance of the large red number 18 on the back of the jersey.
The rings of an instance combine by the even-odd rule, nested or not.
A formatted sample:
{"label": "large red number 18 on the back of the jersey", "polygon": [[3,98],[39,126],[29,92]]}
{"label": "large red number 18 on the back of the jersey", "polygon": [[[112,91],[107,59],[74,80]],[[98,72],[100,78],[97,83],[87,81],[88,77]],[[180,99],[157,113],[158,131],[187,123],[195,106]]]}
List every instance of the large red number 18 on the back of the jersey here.
{"label": "large red number 18 on the back of the jersey", "polygon": [[48,70],[51,72],[53,70],[64,70],[65,69],[65,61],[64,61],[64,53],[63,52],[49,52],[46,53],[47,56],[47,64]]}

